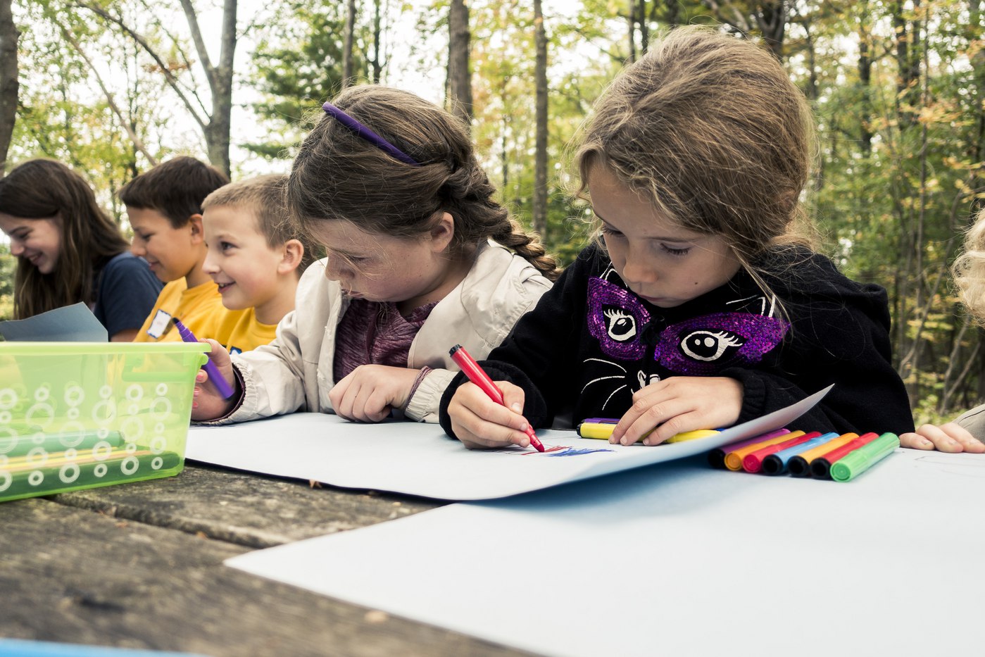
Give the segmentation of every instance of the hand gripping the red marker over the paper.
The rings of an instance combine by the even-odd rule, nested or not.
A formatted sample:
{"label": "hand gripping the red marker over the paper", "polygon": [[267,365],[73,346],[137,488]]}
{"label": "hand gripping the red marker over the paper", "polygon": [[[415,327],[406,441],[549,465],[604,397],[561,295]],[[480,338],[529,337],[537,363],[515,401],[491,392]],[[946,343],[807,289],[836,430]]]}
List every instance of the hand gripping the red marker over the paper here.
{"label": "hand gripping the red marker over the paper", "polygon": [[[448,404],[451,429],[469,449],[530,445],[530,437],[523,430],[527,421],[523,418],[523,388],[509,381],[493,381],[502,392],[505,406],[493,402],[475,383],[465,383]],[[507,408],[508,407],[508,408]]]}

